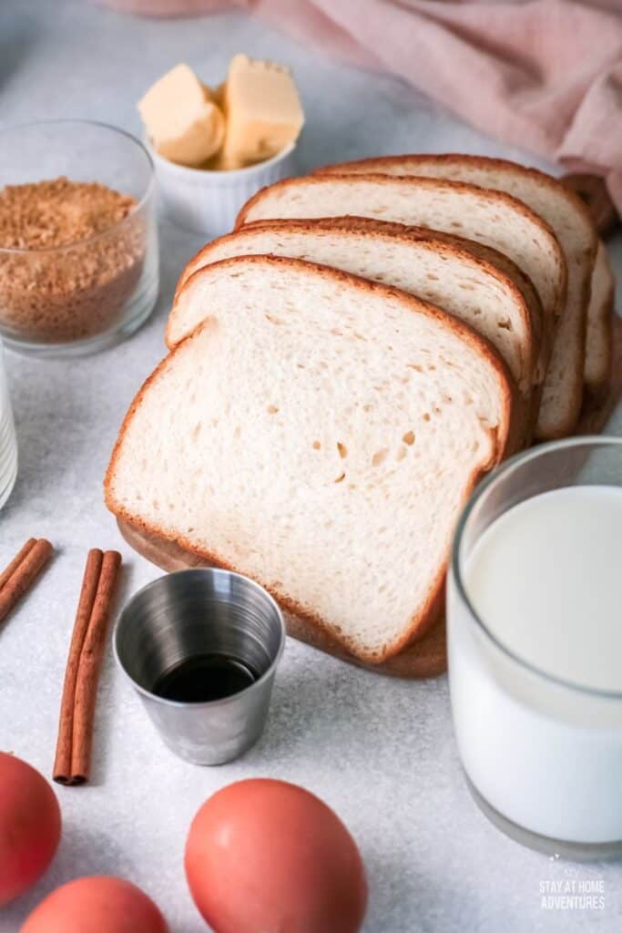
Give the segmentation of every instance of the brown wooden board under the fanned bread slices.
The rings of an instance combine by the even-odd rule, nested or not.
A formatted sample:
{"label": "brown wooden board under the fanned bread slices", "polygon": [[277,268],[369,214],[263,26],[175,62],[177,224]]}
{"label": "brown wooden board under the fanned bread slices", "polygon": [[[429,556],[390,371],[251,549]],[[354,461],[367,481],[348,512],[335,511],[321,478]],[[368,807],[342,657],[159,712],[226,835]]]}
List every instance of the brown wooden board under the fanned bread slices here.
{"label": "brown wooden board under the fanned bread slices", "polygon": [[[614,366],[609,394],[601,399],[587,399],[581,416],[578,434],[600,434],[622,397],[622,320],[615,318]],[[118,522],[121,535],[134,550],[162,570],[187,570],[191,567],[207,566],[196,554],[189,553],[171,541],[145,535],[127,522]],[[439,620],[422,639],[401,651],[394,658],[381,664],[366,664],[353,658],[345,648],[328,634],[318,631],[297,617],[285,614],[287,633],[292,638],[306,642],[313,648],[325,651],[342,661],[364,667],[376,674],[403,677],[410,680],[435,677],[447,670],[447,639],[445,620]]]}

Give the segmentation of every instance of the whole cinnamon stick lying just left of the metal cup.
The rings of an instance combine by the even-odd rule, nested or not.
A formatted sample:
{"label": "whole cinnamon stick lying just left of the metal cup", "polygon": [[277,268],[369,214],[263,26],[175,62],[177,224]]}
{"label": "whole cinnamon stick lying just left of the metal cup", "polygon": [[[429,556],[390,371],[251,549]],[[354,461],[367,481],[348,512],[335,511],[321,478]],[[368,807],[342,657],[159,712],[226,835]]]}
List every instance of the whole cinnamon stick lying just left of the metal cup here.
{"label": "whole cinnamon stick lying just left of the metal cup", "polygon": [[62,690],[53,773],[59,784],[84,784],[90,777],[97,687],[120,564],[116,550],[89,552]]}

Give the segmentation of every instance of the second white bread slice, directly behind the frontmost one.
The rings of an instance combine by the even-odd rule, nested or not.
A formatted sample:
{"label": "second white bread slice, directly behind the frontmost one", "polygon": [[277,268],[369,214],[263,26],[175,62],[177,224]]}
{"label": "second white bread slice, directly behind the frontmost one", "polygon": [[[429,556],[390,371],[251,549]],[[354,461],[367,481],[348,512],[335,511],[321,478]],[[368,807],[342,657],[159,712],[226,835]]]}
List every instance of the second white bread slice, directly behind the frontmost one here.
{"label": "second white bread slice, directly behind the frontmost one", "polygon": [[[455,245],[407,233],[352,229],[322,221],[276,221],[220,237],[190,260],[187,272],[235,256],[271,255],[309,259],[394,285],[432,301],[483,334],[504,357],[525,406],[531,405],[534,373],[532,320],[518,287],[490,263]],[[211,305],[196,301],[187,272],[173,300],[166,341],[173,347],[200,324],[197,315]],[[209,299],[209,295],[208,295]]]}

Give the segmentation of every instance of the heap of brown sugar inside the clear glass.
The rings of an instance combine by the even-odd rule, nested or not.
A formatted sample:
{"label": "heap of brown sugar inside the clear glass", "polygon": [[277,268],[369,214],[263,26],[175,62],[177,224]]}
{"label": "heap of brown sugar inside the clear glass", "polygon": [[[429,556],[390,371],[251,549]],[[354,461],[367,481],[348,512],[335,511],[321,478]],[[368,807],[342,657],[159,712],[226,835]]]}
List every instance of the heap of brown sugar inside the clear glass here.
{"label": "heap of brown sugar inside the clear glass", "polygon": [[143,271],[136,206],[130,195],[67,178],[1,189],[0,329],[59,343],[113,327]]}

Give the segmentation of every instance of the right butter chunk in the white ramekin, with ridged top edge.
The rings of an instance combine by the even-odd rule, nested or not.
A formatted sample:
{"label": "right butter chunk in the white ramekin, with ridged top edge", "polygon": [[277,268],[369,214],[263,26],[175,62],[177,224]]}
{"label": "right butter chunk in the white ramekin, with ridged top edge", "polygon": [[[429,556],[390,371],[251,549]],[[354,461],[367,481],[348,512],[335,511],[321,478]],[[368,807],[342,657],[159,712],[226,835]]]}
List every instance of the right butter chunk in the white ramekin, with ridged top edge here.
{"label": "right butter chunk in the white ramekin, with ridged top edge", "polygon": [[227,129],[218,168],[270,159],[297,140],[304,114],[288,68],[236,55],[221,93]]}

